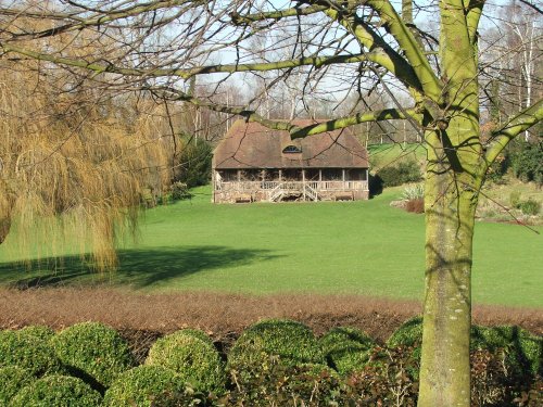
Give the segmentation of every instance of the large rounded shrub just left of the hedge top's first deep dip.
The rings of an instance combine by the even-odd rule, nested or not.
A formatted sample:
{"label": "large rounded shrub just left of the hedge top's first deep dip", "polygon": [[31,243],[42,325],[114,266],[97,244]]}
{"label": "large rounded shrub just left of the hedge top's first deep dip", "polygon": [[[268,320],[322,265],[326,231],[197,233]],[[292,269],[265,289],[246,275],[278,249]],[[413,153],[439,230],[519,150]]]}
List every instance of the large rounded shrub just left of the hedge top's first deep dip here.
{"label": "large rounded shrub just left of the hedge top's first deep dip", "polygon": [[51,343],[73,376],[100,390],[135,365],[126,341],[102,323],[76,323],[59,332]]}

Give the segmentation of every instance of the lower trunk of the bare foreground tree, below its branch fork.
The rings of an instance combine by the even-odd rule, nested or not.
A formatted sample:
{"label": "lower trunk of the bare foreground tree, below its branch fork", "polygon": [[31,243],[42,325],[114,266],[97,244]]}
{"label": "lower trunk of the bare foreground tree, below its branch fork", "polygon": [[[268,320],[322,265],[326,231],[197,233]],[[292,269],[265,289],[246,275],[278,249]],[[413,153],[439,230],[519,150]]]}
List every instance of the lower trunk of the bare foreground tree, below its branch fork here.
{"label": "lower trunk of the bare foreground tree, below its branch fork", "polygon": [[[418,405],[470,405],[471,247],[476,187],[430,169],[426,181],[426,297]],[[456,179],[455,179],[456,178]],[[470,182],[471,183],[471,182]]]}

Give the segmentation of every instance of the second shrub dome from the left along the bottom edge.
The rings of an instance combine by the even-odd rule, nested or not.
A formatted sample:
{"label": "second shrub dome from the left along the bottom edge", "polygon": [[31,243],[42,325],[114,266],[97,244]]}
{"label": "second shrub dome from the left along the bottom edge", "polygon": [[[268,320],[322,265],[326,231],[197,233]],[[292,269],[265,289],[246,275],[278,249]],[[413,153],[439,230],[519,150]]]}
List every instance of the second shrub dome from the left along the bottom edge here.
{"label": "second shrub dome from the left along the bottom edge", "polygon": [[10,407],[98,407],[101,402],[100,393],[83,380],[52,374],[22,389]]}

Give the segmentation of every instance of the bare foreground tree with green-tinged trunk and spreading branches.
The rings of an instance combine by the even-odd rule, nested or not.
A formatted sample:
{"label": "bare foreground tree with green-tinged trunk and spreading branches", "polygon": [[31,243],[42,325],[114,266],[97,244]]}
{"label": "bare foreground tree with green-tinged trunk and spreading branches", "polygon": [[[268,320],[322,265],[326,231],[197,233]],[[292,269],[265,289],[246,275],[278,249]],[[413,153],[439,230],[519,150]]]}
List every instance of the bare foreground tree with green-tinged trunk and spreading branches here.
{"label": "bare foreground tree with green-tinged trunk and spreading branches", "polygon": [[[528,1],[528,0],[527,0]],[[485,0],[400,5],[390,0],[3,1],[3,59],[61,66],[98,84],[144,89],[160,99],[240,115],[292,138],[367,122],[404,119],[427,148],[426,294],[419,406],[469,406],[469,331],[475,211],[489,166],[507,143],[543,118],[543,100],[481,137],[478,29]],[[540,13],[540,9],[534,5]],[[532,8],[532,9],[533,9]],[[412,13],[439,17],[421,30]],[[39,27],[28,22],[39,21]],[[266,33],[289,54],[262,61],[251,47]],[[55,38],[58,40],[52,41]],[[92,39],[92,49],[81,48]],[[266,88],[302,76],[302,103],[376,89],[394,103],[378,111],[296,127],[267,118],[251,104],[216,103],[225,86],[276,73]],[[210,94],[189,91],[206,76]],[[401,96],[402,98],[399,98]],[[408,100],[402,105],[400,100]]]}

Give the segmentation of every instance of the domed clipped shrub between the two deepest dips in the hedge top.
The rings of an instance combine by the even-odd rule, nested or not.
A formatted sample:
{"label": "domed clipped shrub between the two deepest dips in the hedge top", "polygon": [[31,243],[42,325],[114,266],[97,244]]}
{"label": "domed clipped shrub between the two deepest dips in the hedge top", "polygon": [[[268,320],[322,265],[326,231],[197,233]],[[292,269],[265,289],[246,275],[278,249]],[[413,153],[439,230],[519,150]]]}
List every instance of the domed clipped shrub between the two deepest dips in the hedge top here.
{"label": "domed clipped shrub between the two deepest dips in the hedge top", "polygon": [[182,331],[159,339],[149,351],[146,365],[172,369],[181,382],[198,391],[222,393],[225,389],[225,371],[217,349]]}

